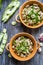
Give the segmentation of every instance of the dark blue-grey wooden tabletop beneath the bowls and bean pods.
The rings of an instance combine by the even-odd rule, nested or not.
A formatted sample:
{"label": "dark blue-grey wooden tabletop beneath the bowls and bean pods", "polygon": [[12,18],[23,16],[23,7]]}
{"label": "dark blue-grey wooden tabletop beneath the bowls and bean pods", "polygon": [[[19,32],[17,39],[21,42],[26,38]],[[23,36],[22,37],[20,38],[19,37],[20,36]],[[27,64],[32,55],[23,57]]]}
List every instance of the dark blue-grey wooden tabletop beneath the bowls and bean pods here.
{"label": "dark blue-grey wooden tabletop beneath the bowls and bean pods", "polygon": [[[38,28],[38,29],[27,29],[21,23],[17,23],[16,26],[11,25],[11,22],[15,21],[14,20],[15,15],[18,13],[19,10],[16,11],[16,13],[11,17],[11,19],[6,24],[1,22],[2,14],[3,14],[6,6],[9,4],[10,1],[11,0],[3,0],[3,7],[0,10],[0,31],[4,27],[7,29],[8,42],[10,41],[10,38],[13,35],[15,35],[19,32],[28,32],[28,33],[32,34],[36,38],[36,40],[38,41],[39,34],[43,32],[43,26]],[[25,1],[26,0],[20,0],[21,4]],[[43,2],[43,0],[40,0],[40,1]],[[15,60],[14,58],[9,58],[8,52],[5,49],[3,54],[0,55],[0,65],[43,65],[43,48],[42,48],[41,54],[36,53],[34,58],[32,58],[30,61],[26,61],[26,62],[20,62],[20,61]]]}

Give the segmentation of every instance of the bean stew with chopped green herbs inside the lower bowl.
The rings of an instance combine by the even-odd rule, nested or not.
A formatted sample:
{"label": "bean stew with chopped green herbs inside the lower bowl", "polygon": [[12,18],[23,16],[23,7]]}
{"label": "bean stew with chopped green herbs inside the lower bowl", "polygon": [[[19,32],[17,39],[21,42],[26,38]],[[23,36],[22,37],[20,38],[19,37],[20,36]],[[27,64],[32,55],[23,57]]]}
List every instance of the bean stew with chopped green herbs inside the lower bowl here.
{"label": "bean stew with chopped green herbs inside the lower bowl", "polygon": [[33,52],[33,43],[29,38],[21,36],[13,41],[12,49],[18,56],[27,57]]}

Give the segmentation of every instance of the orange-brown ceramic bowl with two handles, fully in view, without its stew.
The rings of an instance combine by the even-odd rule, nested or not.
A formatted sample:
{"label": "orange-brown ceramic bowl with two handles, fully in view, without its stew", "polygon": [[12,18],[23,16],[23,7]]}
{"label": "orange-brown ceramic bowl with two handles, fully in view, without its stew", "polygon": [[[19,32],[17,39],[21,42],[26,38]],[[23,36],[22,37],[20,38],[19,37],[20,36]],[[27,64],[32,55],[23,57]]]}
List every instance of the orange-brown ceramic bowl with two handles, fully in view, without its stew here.
{"label": "orange-brown ceramic bowl with two handles, fully in view, without its stew", "polygon": [[[14,53],[13,49],[12,49],[12,43],[13,43],[13,40],[15,40],[16,38],[20,37],[20,36],[26,36],[28,37],[29,39],[31,39],[31,41],[33,42],[34,46],[33,46],[33,52],[31,54],[29,54],[27,57],[25,58],[22,58],[20,56],[18,56],[16,53]],[[8,49],[8,46],[9,46],[9,49]],[[38,44],[37,46],[37,41],[35,40],[35,38],[31,35],[31,34],[28,34],[28,33],[25,33],[25,32],[22,32],[22,33],[18,33],[16,35],[14,35],[9,44],[6,45],[6,49],[8,51],[10,51],[11,55],[13,56],[13,58],[19,60],[19,61],[27,61],[27,60],[30,60],[32,57],[34,57],[34,55],[36,54],[38,48],[40,47],[40,45]]]}

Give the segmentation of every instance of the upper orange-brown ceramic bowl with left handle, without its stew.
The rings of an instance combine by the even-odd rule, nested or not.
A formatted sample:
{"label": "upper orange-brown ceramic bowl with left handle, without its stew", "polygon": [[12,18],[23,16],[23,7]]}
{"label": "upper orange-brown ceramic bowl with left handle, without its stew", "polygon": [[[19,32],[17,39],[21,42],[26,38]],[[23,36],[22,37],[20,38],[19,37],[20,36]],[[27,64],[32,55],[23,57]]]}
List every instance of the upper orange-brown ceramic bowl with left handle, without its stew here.
{"label": "upper orange-brown ceramic bowl with left handle, without its stew", "polygon": [[41,26],[43,25],[43,21],[42,21],[40,24],[36,25],[36,26],[28,26],[28,25],[26,25],[26,24],[23,22],[23,20],[22,20],[22,11],[23,11],[23,8],[24,8],[27,4],[29,4],[29,5],[38,4],[38,6],[39,6],[39,7],[41,8],[41,10],[43,11],[43,4],[42,4],[41,2],[36,1],[36,0],[29,0],[29,1],[27,1],[27,2],[25,2],[25,3],[23,3],[23,4],[21,5],[20,10],[19,10],[19,14],[18,14],[18,15],[19,15],[19,18],[20,18],[20,21],[17,19],[18,15],[16,16],[16,21],[17,21],[17,22],[21,22],[24,26],[26,26],[26,27],[28,27],[28,28],[39,28],[39,27],[41,27]]}

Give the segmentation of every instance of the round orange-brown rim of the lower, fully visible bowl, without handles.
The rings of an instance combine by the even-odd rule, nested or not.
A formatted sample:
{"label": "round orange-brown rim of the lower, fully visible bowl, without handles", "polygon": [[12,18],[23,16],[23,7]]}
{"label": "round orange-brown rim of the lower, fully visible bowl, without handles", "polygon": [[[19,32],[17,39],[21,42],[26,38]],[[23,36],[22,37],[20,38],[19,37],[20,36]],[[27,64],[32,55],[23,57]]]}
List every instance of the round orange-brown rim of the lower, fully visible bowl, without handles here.
{"label": "round orange-brown rim of the lower, fully visible bowl, without handles", "polygon": [[[14,53],[14,51],[12,50],[12,40],[14,40],[14,38],[15,37],[17,37],[18,35],[25,35],[25,36],[31,36],[32,38],[33,38],[33,40],[34,40],[34,42],[35,42],[35,50],[34,50],[34,52],[32,52],[30,55],[28,55],[28,57],[25,57],[25,58],[21,58],[20,56],[18,56],[16,53]],[[27,37],[28,37],[27,36]],[[19,36],[18,36],[19,37]],[[16,39],[16,38],[15,38]],[[25,33],[25,32],[21,32],[21,33],[18,33],[18,34],[16,34],[16,35],[14,35],[12,38],[11,38],[11,40],[10,40],[10,45],[9,45],[9,50],[10,50],[10,53],[11,53],[11,55],[13,56],[13,58],[15,58],[15,59],[17,59],[17,60],[19,60],[19,61],[27,61],[27,60],[30,60],[31,58],[33,58],[33,56],[36,54],[36,52],[37,52],[37,48],[36,48],[36,40],[35,40],[35,38],[31,35],[31,34],[29,34],[29,33]]]}

